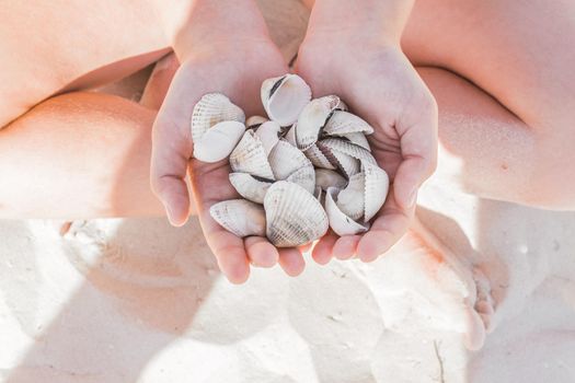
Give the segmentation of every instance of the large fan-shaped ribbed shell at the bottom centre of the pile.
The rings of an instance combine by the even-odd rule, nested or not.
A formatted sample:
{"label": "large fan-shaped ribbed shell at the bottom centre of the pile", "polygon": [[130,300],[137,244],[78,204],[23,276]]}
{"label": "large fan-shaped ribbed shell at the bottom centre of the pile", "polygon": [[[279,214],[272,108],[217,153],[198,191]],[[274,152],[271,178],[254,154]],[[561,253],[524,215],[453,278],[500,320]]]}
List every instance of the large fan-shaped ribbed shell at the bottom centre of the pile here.
{"label": "large fan-shaped ribbed shell at the bottom centre of the pile", "polygon": [[321,204],[301,186],[278,181],[264,199],[267,239],[278,247],[292,247],[318,240],[327,232],[327,216]]}

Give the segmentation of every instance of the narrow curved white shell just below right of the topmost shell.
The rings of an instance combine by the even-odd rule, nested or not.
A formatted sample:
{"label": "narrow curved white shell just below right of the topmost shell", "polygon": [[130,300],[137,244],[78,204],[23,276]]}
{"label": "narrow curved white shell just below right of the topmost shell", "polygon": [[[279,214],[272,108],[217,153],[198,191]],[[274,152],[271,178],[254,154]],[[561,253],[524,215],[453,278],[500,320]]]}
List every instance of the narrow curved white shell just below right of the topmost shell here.
{"label": "narrow curved white shell just below right of the topmost shell", "polygon": [[296,141],[299,149],[306,150],[318,141],[321,129],[338,104],[340,97],[329,95],[312,100],[306,105],[299,115],[296,128]]}

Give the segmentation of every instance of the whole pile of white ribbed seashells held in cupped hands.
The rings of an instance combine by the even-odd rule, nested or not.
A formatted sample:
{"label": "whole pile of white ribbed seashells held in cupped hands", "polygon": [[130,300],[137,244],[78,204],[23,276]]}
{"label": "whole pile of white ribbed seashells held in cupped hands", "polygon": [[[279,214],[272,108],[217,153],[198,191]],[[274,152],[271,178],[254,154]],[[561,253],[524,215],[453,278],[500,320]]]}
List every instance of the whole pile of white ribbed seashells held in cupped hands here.
{"label": "whole pile of white ribbed seashells held in cupped hands", "polygon": [[240,237],[267,236],[278,247],[315,241],[329,227],[338,235],[367,231],[389,188],[366,139],[373,128],[335,95],[312,100],[297,74],[264,81],[262,102],[269,119],[245,120],[219,93],[194,107],[194,158],[229,156],[230,183],[243,197],[214,205],[211,217]]}

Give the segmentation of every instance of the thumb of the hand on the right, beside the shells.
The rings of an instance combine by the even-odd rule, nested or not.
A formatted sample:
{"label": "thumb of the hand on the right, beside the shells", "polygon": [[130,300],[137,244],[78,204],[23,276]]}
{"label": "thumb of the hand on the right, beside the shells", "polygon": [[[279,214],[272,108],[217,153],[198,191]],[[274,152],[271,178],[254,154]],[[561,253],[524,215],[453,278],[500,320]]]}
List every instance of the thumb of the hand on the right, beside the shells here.
{"label": "thumb of the hand on the right, beside the shells", "polygon": [[409,209],[415,205],[418,187],[435,171],[437,164],[437,113],[429,112],[427,118],[401,134],[403,161],[398,167],[393,184],[399,206]]}

